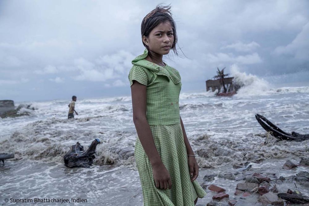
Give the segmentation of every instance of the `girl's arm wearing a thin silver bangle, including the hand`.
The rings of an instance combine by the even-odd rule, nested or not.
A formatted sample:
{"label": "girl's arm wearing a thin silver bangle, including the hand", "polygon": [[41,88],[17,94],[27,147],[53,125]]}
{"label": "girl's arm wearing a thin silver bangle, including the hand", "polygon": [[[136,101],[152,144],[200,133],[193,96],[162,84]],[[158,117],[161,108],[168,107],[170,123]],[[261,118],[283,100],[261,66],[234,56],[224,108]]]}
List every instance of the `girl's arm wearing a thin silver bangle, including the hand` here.
{"label": "girl's arm wearing a thin silver bangle, including the hand", "polygon": [[[181,117],[180,117],[180,124],[182,128],[182,133],[184,134],[184,145],[186,146],[187,154],[194,155],[193,149],[190,145],[186,131],[184,129],[184,123],[182,122]],[[197,165],[195,157],[188,156],[188,165],[189,165],[189,171],[190,171],[190,176],[191,176],[191,182],[193,182],[195,179],[197,179],[197,176],[198,176],[198,165]]]}

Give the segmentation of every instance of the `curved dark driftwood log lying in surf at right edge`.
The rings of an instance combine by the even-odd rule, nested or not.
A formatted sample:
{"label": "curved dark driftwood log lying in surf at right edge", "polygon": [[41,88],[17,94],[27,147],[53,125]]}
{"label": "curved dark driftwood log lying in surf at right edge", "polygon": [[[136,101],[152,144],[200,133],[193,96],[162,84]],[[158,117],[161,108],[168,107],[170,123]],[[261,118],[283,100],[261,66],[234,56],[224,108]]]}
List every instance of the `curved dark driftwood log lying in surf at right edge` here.
{"label": "curved dark driftwood log lying in surf at right edge", "polygon": [[305,141],[309,140],[309,134],[299,134],[297,132],[292,132],[291,134],[282,131],[279,127],[271,123],[268,119],[264,116],[256,114],[256,120],[260,123],[260,125],[270,134],[280,140],[287,140],[287,141]]}

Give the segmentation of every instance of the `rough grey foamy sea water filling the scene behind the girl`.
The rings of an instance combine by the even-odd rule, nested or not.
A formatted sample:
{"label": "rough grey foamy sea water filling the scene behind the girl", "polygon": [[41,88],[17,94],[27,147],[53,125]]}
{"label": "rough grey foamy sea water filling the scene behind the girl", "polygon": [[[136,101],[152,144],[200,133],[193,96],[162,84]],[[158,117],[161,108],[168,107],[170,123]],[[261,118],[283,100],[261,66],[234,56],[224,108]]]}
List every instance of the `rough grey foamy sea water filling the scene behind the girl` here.
{"label": "rough grey foamy sea water filling the scene behind the girl", "polygon": [[[230,199],[236,184],[244,182],[241,175],[255,171],[274,179],[295,175],[307,168],[289,171],[282,170],[282,165],[287,159],[298,163],[300,157],[309,154],[309,141],[276,141],[255,119],[258,113],[286,132],[309,133],[309,86],[276,88],[255,76],[237,77],[245,83],[233,97],[216,97],[210,91],[180,95],[180,114],[200,167],[198,181],[224,187]],[[69,102],[23,102],[36,110],[23,109],[20,112],[30,115],[0,119],[0,153],[15,154],[13,160],[0,166],[0,204],[16,205],[16,201],[38,198],[47,202],[18,204],[59,205],[51,201],[68,199],[70,203],[61,205],[142,205],[133,154],[137,134],[130,96],[78,98],[75,109],[79,115],[70,120]],[[78,141],[87,149],[95,138],[101,144],[96,148],[93,166],[64,166],[63,156],[71,145]],[[232,166],[244,162],[250,162],[252,168],[236,180],[216,177],[212,182],[203,181],[205,174],[235,172]],[[279,190],[285,187],[296,189],[289,182]],[[198,204],[210,202],[214,193],[206,191],[209,194]],[[257,197],[249,198],[246,204],[260,205]]]}

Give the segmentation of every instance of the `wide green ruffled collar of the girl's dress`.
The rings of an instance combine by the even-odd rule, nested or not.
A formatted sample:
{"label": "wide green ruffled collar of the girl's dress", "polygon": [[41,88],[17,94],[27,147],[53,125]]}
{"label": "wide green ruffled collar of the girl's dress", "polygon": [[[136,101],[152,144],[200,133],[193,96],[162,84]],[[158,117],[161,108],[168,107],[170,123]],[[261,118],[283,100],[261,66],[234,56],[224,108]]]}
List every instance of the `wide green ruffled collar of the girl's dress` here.
{"label": "wide green ruffled collar of the girl's dress", "polygon": [[167,76],[172,80],[172,82],[174,82],[174,84],[178,84],[180,82],[181,80],[180,74],[176,69],[168,66],[167,64],[165,67],[163,67],[150,61],[147,61],[145,60],[147,56],[148,56],[148,50],[145,49],[142,55],[139,55],[138,57],[133,59],[132,64],[149,69],[157,75]]}

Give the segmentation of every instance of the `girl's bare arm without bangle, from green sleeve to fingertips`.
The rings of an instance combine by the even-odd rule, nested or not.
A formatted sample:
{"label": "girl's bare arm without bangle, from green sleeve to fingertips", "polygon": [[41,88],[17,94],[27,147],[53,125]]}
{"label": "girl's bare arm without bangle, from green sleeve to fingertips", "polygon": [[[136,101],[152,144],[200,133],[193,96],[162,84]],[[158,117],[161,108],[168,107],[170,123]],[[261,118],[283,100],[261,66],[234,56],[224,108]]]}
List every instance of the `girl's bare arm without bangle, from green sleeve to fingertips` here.
{"label": "girl's bare arm without bangle, from green sleeve to fingertips", "polygon": [[156,187],[160,189],[171,189],[170,175],[163,165],[158,150],[155,147],[155,141],[146,119],[146,90],[147,87],[137,81],[134,81],[131,86],[133,122],[139,141],[150,160]]}

